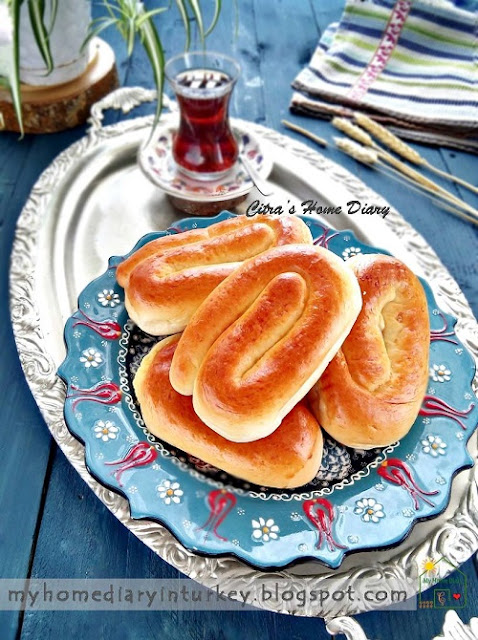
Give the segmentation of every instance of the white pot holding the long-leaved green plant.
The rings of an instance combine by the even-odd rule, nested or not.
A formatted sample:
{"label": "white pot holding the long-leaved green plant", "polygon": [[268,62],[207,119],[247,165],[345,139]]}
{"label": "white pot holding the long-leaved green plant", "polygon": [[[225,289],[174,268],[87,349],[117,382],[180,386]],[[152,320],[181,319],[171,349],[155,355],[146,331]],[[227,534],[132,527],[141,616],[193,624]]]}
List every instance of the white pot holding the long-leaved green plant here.
{"label": "white pot holding the long-leaved green plant", "polygon": [[[49,3],[45,3],[45,20],[49,23]],[[35,86],[52,86],[80,76],[88,65],[88,50],[80,52],[91,20],[90,0],[59,0],[55,26],[50,34],[50,49],[55,68],[47,69],[30,24],[28,6],[21,9],[20,80]]]}

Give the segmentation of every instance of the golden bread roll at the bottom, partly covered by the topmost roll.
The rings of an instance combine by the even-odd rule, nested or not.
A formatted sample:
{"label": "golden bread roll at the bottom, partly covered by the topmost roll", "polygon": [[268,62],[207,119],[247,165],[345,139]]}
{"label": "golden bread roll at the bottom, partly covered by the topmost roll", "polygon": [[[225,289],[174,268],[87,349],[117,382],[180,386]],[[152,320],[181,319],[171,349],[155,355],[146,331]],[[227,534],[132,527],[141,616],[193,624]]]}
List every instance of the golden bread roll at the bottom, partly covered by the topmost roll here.
{"label": "golden bread roll at the bottom, partly covered by the topmost roll", "polygon": [[234,476],[255,484],[294,488],[310,482],[322,459],[317,420],[298,404],[272,435],[253,444],[229,442],[194,412],[191,398],[177,393],[169,369],[179,336],[154,346],[143,359],[134,388],[143,419],[155,436]]}

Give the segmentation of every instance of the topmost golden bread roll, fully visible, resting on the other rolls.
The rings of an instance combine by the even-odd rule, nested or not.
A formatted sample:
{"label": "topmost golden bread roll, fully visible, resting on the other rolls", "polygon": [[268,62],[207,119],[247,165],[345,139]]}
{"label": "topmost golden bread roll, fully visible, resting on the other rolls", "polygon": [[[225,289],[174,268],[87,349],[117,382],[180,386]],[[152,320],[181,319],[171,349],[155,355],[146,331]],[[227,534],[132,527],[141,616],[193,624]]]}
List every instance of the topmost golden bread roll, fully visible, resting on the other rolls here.
{"label": "topmost golden bread roll, fully visible, resting on the other rolls", "polygon": [[181,336],[171,384],[233,442],[273,433],[339,349],[362,305],[351,269],[326,249],[275,247],[236,269]]}

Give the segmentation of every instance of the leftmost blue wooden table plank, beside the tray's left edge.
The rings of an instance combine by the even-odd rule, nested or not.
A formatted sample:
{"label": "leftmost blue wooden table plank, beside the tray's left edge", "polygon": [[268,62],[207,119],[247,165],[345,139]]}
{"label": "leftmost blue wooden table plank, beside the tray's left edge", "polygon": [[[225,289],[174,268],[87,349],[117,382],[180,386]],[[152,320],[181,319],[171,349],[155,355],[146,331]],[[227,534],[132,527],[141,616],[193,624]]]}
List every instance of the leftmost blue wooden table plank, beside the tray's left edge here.
{"label": "leftmost blue wooden table plank, beside the tray's left edge", "polygon": [[[30,395],[18,360],[8,305],[8,269],[15,223],[38,177],[67,141],[52,139],[47,147],[16,134],[0,139],[0,577],[21,578],[29,569],[51,438]],[[13,158],[13,161],[12,161]],[[21,534],[21,537],[20,537]],[[18,614],[0,612],[0,637],[15,638]]]}

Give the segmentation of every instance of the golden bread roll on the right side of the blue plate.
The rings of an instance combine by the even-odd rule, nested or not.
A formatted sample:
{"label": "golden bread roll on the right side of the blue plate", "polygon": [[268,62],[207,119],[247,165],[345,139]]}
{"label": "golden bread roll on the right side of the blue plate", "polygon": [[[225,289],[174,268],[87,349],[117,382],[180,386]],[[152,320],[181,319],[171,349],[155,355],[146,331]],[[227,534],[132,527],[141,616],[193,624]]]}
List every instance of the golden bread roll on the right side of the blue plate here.
{"label": "golden bread roll on the right side of the blue plate", "polygon": [[408,433],[427,388],[427,300],[395,258],[357,256],[347,265],[362,290],[362,311],[309,399],[321,426],[342,444],[384,447]]}

